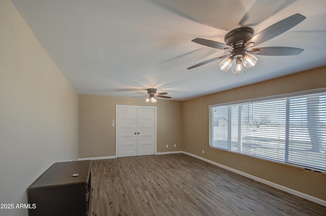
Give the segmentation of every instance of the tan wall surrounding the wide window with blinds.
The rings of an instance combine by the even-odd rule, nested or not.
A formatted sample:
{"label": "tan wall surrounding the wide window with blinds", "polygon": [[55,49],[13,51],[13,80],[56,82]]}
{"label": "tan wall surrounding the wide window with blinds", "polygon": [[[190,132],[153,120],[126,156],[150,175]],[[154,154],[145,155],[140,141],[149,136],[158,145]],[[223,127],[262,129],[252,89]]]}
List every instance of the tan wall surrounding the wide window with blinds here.
{"label": "tan wall surrounding the wide window with blinds", "polygon": [[[182,150],[326,200],[325,174],[271,163],[208,146],[208,105],[326,87],[325,80],[326,67],[185,101],[182,103]],[[205,150],[204,154],[202,150]]]}

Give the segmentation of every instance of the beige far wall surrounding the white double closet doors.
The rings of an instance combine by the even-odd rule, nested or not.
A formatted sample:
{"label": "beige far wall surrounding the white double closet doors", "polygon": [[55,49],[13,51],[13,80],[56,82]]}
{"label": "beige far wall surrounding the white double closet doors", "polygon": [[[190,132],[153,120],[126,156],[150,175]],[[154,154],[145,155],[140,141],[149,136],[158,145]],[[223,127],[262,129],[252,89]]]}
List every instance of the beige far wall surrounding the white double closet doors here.
{"label": "beige far wall surrounding the white double closet doors", "polygon": [[[79,95],[78,101],[80,158],[116,155],[116,132],[112,126],[116,104],[150,106],[139,98]],[[157,152],[182,150],[181,102],[158,100],[153,106],[157,107]]]}

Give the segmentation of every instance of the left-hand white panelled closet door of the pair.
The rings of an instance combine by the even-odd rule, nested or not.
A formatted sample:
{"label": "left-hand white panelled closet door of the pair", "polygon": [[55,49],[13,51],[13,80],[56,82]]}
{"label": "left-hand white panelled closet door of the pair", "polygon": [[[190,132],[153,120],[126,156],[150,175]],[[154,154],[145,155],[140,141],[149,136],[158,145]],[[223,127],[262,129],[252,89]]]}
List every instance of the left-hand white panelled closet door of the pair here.
{"label": "left-hand white panelled closet door of the pair", "polygon": [[118,157],[137,156],[137,109],[119,107]]}

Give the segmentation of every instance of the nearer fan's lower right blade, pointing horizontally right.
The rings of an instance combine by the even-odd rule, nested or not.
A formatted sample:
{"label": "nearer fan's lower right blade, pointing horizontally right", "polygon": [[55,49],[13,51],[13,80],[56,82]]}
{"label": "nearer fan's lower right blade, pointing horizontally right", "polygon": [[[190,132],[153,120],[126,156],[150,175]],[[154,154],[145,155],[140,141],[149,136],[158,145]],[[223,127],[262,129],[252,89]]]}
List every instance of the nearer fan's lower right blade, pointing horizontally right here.
{"label": "nearer fan's lower right blade, pointing horizontally right", "polygon": [[304,50],[294,47],[260,47],[248,52],[252,52],[255,55],[298,55],[302,51]]}

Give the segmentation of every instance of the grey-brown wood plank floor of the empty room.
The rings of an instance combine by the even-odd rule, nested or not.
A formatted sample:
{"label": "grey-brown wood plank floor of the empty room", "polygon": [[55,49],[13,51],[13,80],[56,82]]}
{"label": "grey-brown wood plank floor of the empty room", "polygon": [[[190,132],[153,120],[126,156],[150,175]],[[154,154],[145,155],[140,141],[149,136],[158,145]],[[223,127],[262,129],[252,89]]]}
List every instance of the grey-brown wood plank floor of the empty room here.
{"label": "grey-brown wood plank floor of the empty room", "polygon": [[91,215],[326,215],[326,207],[196,158],[92,161]]}

